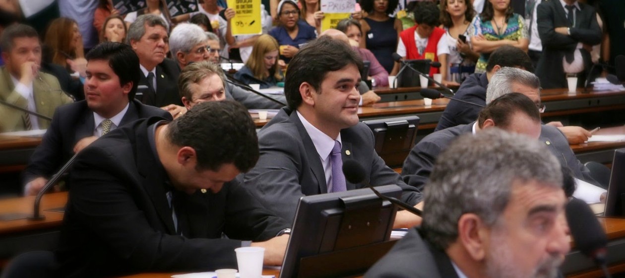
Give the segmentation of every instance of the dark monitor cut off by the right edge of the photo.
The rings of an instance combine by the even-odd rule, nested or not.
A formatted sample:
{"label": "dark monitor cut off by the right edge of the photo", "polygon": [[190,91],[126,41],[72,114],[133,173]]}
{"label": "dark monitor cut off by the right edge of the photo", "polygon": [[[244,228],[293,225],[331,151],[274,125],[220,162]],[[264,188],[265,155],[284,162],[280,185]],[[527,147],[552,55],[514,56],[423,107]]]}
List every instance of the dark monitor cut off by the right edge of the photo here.
{"label": "dark monitor cut off by the right edge of the photo", "polygon": [[625,212],[625,148],[614,151],[612,173],[607,186],[604,216],[623,216]]}

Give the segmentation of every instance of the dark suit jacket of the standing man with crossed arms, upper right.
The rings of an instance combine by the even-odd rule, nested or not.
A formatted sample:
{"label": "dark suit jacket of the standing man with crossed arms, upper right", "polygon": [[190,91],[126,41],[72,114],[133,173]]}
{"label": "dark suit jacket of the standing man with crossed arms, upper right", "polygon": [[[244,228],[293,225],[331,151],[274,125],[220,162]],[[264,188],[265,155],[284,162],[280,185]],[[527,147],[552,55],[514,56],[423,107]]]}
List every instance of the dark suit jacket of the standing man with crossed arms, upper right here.
{"label": "dark suit jacket of the standing man with crossed arms, upper right", "polygon": [[[594,8],[583,3],[579,3],[579,8],[581,11],[575,9],[575,26],[569,23],[567,11],[558,0],[542,1],[536,8],[538,34],[542,41],[542,56],[536,66],[536,75],[541,80],[542,88],[566,88],[562,57],[574,51],[579,42],[590,45],[601,43],[601,28]],[[557,27],[571,28],[571,36],[556,33]],[[586,70],[590,70],[590,53],[584,49],[581,53]]]}

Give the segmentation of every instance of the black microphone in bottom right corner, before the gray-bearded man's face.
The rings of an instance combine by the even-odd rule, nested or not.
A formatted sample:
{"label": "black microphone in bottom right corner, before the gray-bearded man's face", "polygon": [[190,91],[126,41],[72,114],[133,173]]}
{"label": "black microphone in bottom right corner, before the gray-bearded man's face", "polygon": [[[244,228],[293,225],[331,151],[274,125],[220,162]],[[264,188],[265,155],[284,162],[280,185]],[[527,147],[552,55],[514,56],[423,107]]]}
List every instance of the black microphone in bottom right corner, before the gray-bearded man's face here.
{"label": "black microphone in bottom right corner, before the gray-bearded man's face", "polygon": [[607,271],[607,236],[599,220],[586,202],[572,198],[566,204],[566,220],[577,249],[601,266],[605,277],[611,277]]}

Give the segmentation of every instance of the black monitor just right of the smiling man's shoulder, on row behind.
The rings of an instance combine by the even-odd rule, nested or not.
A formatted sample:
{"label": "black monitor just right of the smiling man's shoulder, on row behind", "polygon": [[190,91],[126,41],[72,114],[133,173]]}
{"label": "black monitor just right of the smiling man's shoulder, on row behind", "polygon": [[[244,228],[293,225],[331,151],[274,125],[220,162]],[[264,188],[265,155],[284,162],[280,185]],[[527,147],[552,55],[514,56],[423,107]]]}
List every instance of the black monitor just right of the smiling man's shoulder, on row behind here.
{"label": "black monitor just right of the smiling man's shoulder, on row behind", "polygon": [[401,116],[362,123],[373,131],[377,155],[388,167],[401,167],[416,143],[419,117]]}

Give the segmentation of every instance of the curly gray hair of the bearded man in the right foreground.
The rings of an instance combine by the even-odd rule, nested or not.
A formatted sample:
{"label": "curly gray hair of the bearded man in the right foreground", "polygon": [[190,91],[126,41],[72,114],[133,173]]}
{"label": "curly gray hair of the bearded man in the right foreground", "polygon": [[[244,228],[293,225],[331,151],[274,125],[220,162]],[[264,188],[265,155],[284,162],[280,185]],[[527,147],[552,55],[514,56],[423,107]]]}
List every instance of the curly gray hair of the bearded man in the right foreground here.
{"label": "curly gray hair of the bearded man in the right foreground", "polygon": [[562,170],[538,140],[499,128],[460,136],[436,159],[424,188],[422,229],[446,249],[458,237],[463,214],[476,214],[488,227],[501,219],[516,182],[562,188]]}

